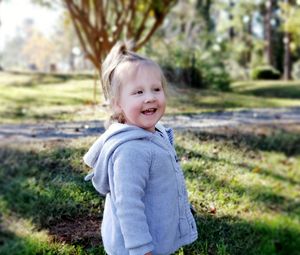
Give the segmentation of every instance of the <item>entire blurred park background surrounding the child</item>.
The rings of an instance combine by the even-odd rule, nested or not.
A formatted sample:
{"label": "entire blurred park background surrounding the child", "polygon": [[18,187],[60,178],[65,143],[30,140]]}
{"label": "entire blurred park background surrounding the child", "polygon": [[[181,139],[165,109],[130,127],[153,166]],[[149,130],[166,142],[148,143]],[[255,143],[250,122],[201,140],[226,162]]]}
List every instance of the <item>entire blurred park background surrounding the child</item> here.
{"label": "entire blurred park background surrounding the child", "polygon": [[51,32],[31,17],[3,37],[13,4],[0,1],[0,254],[105,254],[82,157],[122,38],[169,81],[162,122],[199,232],[176,255],[300,254],[299,1],[34,0]]}

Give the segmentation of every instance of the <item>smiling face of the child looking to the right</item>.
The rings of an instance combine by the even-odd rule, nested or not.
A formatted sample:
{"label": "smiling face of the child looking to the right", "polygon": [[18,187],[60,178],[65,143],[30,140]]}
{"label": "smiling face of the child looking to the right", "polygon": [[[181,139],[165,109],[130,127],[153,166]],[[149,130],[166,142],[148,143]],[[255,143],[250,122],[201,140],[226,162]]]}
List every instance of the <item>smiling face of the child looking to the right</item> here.
{"label": "smiling face of the child looking to the right", "polygon": [[123,113],[126,124],[155,132],[155,125],[166,108],[160,71],[149,64],[123,65],[120,68],[122,85],[116,110]]}

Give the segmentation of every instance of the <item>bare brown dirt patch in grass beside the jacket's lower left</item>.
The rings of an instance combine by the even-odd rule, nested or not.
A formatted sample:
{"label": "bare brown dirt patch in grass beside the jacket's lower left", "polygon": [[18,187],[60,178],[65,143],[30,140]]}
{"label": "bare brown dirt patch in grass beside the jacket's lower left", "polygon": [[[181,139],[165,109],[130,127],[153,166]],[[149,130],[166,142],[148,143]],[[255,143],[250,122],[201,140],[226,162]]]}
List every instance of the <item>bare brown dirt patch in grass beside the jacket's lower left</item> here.
{"label": "bare brown dirt patch in grass beside the jacket's lower left", "polygon": [[51,226],[49,233],[58,242],[97,246],[102,243],[100,225],[101,219],[95,216],[67,219]]}

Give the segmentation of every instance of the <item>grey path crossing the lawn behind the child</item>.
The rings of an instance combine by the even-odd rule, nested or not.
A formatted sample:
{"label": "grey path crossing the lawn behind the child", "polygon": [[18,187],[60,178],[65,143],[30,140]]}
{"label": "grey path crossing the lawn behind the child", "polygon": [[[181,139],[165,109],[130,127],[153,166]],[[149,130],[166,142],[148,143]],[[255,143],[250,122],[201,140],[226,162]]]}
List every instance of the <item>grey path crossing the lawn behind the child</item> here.
{"label": "grey path crossing the lawn behind the child", "polygon": [[[178,131],[243,130],[255,127],[293,126],[300,130],[300,108],[245,109],[240,111],[212,112],[192,115],[166,115],[162,124]],[[28,141],[51,141],[99,136],[104,129],[103,121],[58,122],[0,125],[0,145]],[[298,126],[298,128],[297,128]],[[287,129],[286,129],[287,130]],[[255,130],[255,132],[258,132]],[[264,132],[264,131],[262,131]]]}

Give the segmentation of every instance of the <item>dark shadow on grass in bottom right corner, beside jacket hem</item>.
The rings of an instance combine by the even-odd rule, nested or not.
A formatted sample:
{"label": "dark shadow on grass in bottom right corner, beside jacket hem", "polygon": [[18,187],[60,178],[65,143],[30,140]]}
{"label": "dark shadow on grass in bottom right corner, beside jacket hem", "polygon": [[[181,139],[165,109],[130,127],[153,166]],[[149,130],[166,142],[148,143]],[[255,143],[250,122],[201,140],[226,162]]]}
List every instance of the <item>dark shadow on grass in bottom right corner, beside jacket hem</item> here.
{"label": "dark shadow on grass in bottom right corner, beside jacket hem", "polygon": [[271,228],[264,222],[251,223],[238,217],[208,214],[198,214],[196,221],[199,238],[184,247],[185,255],[299,254],[300,233],[284,227]]}

